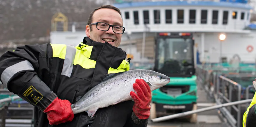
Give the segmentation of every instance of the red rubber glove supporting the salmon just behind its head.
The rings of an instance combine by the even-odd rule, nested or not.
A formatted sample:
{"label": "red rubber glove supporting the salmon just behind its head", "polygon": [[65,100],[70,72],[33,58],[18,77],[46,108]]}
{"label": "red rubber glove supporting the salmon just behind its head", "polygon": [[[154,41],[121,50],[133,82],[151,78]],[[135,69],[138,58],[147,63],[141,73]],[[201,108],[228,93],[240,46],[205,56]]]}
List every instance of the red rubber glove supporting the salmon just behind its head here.
{"label": "red rubber glove supporting the salmon just behind its head", "polygon": [[136,79],[133,84],[135,92],[130,92],[131,97],[134,100],[132,107],[133,112],[139,119],[147,119],[150,115],[150,103],[151,103],[151,90],[148,84],[143,79]]}

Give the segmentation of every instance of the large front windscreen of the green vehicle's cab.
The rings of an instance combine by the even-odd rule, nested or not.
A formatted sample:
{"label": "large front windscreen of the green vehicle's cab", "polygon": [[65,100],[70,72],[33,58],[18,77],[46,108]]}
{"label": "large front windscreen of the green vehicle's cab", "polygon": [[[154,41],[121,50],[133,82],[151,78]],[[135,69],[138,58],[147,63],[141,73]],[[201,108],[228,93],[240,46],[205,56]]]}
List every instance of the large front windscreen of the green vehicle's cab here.
{"label": "large front windscreen of the green vehicle's cab", "polygon": [[188,64],[193,62],[192,39],[159,38],[158,71],[162,73],[185,74]]}

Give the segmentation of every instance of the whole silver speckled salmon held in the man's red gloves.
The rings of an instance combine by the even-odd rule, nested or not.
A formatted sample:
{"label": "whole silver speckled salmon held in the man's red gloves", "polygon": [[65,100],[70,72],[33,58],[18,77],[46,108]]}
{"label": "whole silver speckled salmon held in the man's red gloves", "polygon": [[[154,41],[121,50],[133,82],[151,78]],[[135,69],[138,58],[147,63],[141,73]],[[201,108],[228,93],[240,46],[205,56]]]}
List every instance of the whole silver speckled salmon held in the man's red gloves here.
{"label": "whole silver speckled salmon held in the man's red gloves", "polygon": [[170,82],[170,78],[166,75],[146,69],[108,74],[98,85],[71,105],[73,113],[77,114],[85,111],[88,116],[93,117],[99,108],[132,100],[130,92],[135,92],[132,85],[136,79],[146,81],[151,91]]}

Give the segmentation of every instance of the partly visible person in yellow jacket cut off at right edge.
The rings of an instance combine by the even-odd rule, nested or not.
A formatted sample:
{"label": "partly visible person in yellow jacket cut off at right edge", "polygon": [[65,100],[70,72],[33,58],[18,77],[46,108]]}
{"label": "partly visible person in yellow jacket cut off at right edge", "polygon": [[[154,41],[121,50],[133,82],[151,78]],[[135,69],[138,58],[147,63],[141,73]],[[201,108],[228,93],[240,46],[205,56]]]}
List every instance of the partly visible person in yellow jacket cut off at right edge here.
{"label": "partly visible person in yellow jacket cut off at right edge", "polygon": [[[256,90],[256,78],[255,81],[252,82],[255,90]],[[253,99],[247,110],[243,114],[243,127],[255,127],[256,126],[256,94],[254,94]]]}

